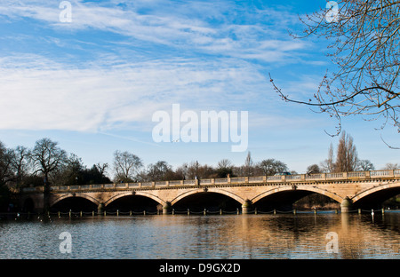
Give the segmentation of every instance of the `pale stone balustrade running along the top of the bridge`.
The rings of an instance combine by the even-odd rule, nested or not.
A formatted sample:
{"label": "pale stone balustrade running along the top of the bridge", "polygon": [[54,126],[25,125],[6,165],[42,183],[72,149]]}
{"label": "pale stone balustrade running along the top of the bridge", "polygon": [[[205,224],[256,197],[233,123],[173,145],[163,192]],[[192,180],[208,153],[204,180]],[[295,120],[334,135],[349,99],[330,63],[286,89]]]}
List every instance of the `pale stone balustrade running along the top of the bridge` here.
{"label": "pale stone balustrade running along the top of the bridge", "polygon": [[[51,191],[70,190],[104,190],[104,189],[129,189],[129,188],[158,188],[158,187],[179,187],[179,186],[241,186],[249,184],[275,185],[291,182],[309,182],[326,180],[351,180],[351,179],[373,179],[373,178],[400,178],[400,170],[373,170],[340,173],[316,173],[316,174],[295,174],[279,176],[255,176],[237,178],[206,178],[191,180],[172,180],[140,183],[118,183],[100,185],[76,185],[76,186],[51,186]],[[43,186],[24,187],[24,193],[43,192]]]}

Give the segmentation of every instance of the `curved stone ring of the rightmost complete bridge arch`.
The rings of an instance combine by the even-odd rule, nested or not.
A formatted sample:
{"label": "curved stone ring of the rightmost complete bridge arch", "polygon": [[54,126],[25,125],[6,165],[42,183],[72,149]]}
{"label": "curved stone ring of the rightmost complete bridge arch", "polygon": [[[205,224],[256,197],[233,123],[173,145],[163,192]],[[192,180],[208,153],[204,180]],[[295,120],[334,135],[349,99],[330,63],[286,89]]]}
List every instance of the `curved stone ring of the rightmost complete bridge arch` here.
{"label": "curved stone ring of the rightmost complete bridge arch", "polygon": [[254,196],[250,201],[254,204],[259,202],[261,199],[264,199],[268,196],[273,196],[274,194],[284,193],[284,192],[309,192],[309,193],[316,193],[316,194],[323,194],[327,197],[332,198],[336,202],[343,202],[343,198],[340,197],[338,194],[334,194],[328,190],[316,187],[316,186],[301,186],[301,188],[297,188],[296,186],[278,186],[274,188],[268,188],[267,191]]}

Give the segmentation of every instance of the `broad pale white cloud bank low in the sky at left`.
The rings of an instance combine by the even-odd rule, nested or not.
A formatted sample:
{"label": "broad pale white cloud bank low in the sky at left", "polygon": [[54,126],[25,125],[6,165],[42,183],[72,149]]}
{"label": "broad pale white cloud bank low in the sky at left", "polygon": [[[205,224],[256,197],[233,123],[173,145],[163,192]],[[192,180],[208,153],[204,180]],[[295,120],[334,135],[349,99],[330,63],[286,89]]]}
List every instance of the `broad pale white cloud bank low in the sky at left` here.
{"label": "broad pale white cloud bank low in the sky at left", "polygon": [[246,83],[262,78],[245,64],[210,67],[170,60],[66,68],[40,56],[2,59],[0,115],[6,120],[0,128],[97,131],[146,124],[156,110],[170,109],[172,103],[195,110],[212,103],[235,106],[252,93],[242,91]]}

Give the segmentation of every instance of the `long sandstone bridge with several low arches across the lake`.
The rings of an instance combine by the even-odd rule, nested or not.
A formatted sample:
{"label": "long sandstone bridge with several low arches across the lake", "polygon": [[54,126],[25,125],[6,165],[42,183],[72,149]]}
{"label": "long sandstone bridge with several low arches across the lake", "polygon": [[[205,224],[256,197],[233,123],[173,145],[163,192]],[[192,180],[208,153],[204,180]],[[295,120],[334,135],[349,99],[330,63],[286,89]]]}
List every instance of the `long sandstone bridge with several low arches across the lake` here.
{"label": "long sandstone bridge with several low arches across the lake", "polygon": [[[81,197],[101,210],[117,199],[138,195],[161,204],[167,213],[188,196],[206,193],[224,194],[236,200],[242,205],[242,213],[250,212],[261,200],[292,204],[312,193],[332,198],[340,203],[341,212],[348,212],[356,207],[380,204],[400,194],[400,170],[51,186],[50,207],[71,197]],[[21,189],[21,207],[28,203],[33,210],[44,209],[44,186]]]}

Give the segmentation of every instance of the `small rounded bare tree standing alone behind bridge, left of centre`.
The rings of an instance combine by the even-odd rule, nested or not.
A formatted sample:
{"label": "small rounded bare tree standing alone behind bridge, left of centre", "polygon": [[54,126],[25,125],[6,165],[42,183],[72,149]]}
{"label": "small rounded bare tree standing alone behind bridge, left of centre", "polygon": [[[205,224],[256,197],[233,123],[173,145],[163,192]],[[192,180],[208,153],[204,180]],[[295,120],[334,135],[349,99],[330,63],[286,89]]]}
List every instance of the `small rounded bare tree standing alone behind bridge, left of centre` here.
{"label": "small rounded bare tree standing alone behind bridge, left of centre", "polygon": [[142,166],[143,162],[135,154],[118,150],[114,153],[114,169],[116,170],[116,179],[119,181],[134,181],[136,173]]}

